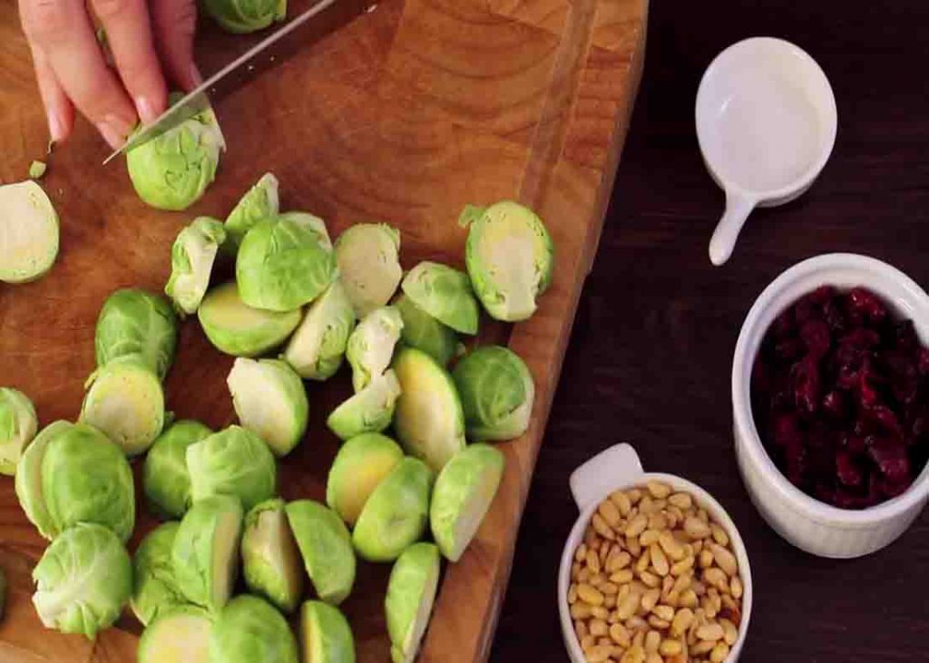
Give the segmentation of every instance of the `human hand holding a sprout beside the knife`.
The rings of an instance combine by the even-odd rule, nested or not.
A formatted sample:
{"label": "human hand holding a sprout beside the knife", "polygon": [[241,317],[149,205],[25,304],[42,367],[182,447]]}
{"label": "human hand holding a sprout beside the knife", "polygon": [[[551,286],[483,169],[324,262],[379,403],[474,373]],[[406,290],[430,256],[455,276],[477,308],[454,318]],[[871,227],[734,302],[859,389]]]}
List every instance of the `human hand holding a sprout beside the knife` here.
{"label": "human hand holding a sprout beside the knife", "polygon": [[[54,142],[71,135],[76,108],[115,150],[137,119],[150,123],[164,111],[165,76],[184,90],[200,81],[195,0],[19,1]],[[104,59],[88,4],[106,30],[115,70]]]}

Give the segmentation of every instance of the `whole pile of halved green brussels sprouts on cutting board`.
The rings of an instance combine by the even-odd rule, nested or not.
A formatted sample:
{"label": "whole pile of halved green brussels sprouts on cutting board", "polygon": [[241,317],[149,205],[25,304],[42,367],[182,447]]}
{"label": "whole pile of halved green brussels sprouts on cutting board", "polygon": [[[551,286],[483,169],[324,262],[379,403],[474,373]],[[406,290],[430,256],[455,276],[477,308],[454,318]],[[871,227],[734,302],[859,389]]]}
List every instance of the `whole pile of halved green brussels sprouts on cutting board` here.
{"label": "whole pile of halved green brussels sprouts on cutting board", "polygon": [[[146,627],[141,663],[296,663],[285,616],[299,608],[302,660],[348,663],[338,606],[360,559],[393,564],[391,657],[412,661],[441,557],[461,558],[502,480],[504,453],[487,442],[525,433],[533,405],[520,357],[465,352],[460,334],[478,333],[480,305],[528,318],[551,277],[551,240],[530,210],[499,202],[463,218],[467,272],[421,262],[404,276],[396,228],[359,224],[333,243],[320,218],[281,213],[268,174],[225,223],[181,229],[167,298],[124,289],[106,300],[77,422],[37,433],[30,400],[0,389],[0,473],[15,474],[23,511],[51,540],[33,572],[42,622],[93,638],[128,604]],[[211,287],[224,259],[235,279]],[[236,357],[239,424],[220,431],[165,411],[178,326],[193,315]],[[345,359],[354,395],[326,420],[344,443],[325,503],[282,500],[278,461],[307,434],[303,381],[329,379]],[[130,558],[128,459],[142,454],[141,494],[164,522]]]}

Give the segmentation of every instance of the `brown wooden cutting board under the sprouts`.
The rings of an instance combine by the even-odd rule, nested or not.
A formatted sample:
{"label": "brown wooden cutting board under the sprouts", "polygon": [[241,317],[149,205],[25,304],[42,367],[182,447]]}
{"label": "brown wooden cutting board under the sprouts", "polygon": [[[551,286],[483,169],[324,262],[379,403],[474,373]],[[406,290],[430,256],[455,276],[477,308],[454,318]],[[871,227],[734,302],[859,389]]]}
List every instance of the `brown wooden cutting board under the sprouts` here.
{"label": "brown wooden cutting board under the sprouts", "polygon": [[[292,10],[303,7],[292,3]],[[427,258],[463,265],[465,231],[455,221],[464,203],[530,205],[556,241],[552,288],[528,322],[511,328],[483,320],[481,341],[507,343],[526,359],[537,384],[532,424],[500,447],[504,482],[464,558],[445,566],[420,656],[485,660],[635,99],[647,8],[648,0],[340,2],[217,100],[229,151],[216,183],[183,214],[140,202],[124,165],[101,167],[108,150],[79,123],[43,180],[61,218],[58,263],[36,283],[0,283],[0,384],[31,396],[43,425],[74,419],[106,296],[124,286],[160,291],[177,230],[194,215],[225,217],[266,171],[281,179],[282,209],[321,215],[333,236],[362,220],[400,228],[405,268]],[[215,71],[256,38],[203,25],[202,69]],[[0,0],[0,182],[23,179],[29,163],[43,158],[46,139],[15,2]],[[180,338],[166,383],[169,408],[216,428],[233,422],[225,384],[231,358],[206,342],[195,319]],[[287,499],[323,498],[336,450],[324,420],[349,394],[346,372],[309,383],[308,391],[307,439],[281,462]],[[139,507],[131,550],[155,524]],[[45,547],[12,479],[0,476],[0,566],[10,582],[0,663],[135,660],[140,629],[128,611],[96,643],[42,627],[30,573]],[[360,661],[388,660],[388,571],[360,565],[344,604]]]}

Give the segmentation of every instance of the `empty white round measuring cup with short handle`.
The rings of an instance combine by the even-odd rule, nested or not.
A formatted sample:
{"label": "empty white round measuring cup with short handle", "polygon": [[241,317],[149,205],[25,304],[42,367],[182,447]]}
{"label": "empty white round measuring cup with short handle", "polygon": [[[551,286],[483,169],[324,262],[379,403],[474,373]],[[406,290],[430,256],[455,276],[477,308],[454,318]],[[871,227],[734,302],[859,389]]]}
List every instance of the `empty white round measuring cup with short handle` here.
{"label": "empty white round measuring cup with short handle", "polygon": [[726,212],[710,260],[729,259],[756,206],[790,202],[813,184],[835,143],[835,97],[802,48],[752,37],[713,59],[697,92],[697,138]]}

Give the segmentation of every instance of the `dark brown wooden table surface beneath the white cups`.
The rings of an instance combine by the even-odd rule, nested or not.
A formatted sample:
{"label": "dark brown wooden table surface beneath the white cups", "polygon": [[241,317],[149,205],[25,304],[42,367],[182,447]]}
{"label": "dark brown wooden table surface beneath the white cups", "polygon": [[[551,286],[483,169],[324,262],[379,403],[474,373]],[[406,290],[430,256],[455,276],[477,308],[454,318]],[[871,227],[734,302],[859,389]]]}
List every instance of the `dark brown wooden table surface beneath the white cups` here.
{"label": "dark brown wooden table surface beneath the white cups", "polygon": [[[929,288],[929,4],[657,0],[645,76],[606,228],[584,289],[517,544],[492,661],[564,661],[556,573],[577,516],[568,477],[617,441],[647,469],[722,502],[752,560],[742,660],[929,660],[929,512],[892,546],[830,561],[780,539],[733,455],[729,380],[742,319],[779,272],[812,255],[870,254]],[[756,212],[725,267],[707,243],[723,208],[700,160],[700,75],[744,37],[787,38],[831,80],[839,133],[818,184]]]}

